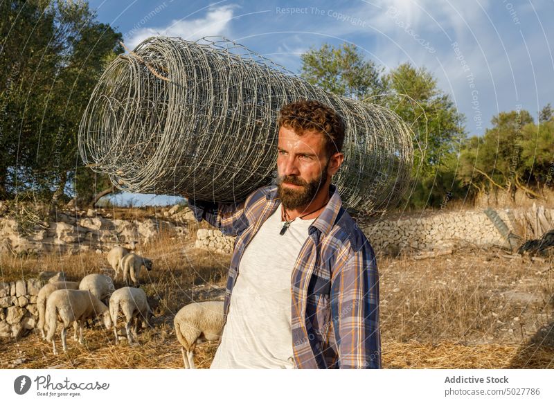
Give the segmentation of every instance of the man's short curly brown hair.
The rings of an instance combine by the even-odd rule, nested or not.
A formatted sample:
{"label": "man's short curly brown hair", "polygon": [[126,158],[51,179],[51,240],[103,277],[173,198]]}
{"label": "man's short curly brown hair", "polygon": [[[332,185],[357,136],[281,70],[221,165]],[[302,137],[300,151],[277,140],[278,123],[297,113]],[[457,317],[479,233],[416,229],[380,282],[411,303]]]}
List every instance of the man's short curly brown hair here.
{"label": "man's short curly brown hair", "polygon": [[298,136],[305,132],[323,134],[327,156],[341,152],[346,125],[334,109],[316,100],[291,102],[279,111],[278,126],[292,129]]}

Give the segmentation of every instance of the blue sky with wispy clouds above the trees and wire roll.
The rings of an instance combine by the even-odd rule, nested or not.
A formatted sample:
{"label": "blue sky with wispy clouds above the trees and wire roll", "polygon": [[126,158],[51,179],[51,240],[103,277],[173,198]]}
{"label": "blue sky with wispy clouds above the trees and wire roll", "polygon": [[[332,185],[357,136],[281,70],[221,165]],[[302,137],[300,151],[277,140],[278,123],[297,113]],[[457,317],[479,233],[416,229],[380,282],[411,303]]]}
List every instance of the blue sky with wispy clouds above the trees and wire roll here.
{"label": "blue sky with wispy clouds above the trees and wire roll", "polygon": [[348,42],[386,70],[425,66],[465,114],[470,135],[483,134],[499,111],[521,108],[536,118],[554,104],[554,1],[89,3],[129,48],[152,35],[223,35],[298,72],[310,47]]}

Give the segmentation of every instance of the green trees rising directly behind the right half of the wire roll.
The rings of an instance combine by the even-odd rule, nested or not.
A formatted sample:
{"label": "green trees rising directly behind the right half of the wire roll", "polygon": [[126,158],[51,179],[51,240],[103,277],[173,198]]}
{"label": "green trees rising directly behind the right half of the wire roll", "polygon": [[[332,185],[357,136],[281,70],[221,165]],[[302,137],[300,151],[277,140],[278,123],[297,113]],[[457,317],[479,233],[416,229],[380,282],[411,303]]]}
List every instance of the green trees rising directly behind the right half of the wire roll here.
{"label": "green trees rising directly behind the right half of the wire roll", "polygon": [[414,192],[403,202],[412,207],[442,206],[464,190],[454,175],[465,139],[464,116],[426,69],[400,64],[388,74],[357,48],[323,44],[302,55],[301,74],[308,82],[342,96],[367,100],[395,111],[413,130]]}

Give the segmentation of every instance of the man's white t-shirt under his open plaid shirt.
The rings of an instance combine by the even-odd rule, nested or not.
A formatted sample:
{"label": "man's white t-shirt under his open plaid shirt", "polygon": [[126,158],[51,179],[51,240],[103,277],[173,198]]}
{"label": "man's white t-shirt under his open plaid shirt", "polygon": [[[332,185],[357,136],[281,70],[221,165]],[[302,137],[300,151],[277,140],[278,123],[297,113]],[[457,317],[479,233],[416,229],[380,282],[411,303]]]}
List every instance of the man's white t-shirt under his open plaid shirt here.
{"label": "man's white t-shirt under his open plaid shirt", "polygon": [[279,235],[283,205],[262,224],[239,263],[229,313],[210,368],[294,368],[291,274],[312,220]]}

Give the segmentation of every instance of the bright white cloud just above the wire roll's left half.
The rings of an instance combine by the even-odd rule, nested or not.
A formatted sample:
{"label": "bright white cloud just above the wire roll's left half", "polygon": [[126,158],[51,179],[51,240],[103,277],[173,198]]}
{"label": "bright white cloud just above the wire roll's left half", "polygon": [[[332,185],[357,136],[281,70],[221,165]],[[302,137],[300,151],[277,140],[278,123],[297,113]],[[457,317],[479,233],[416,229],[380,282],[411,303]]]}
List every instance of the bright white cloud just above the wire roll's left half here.
{"label": "bright white cloud just above the wire roll's left half", "polygon": [[174,19],[167,26],[143,27],[127,33],[125,45],[135,48],[144,39],[152,36],[181,37],[196,40],[209,35],[228,35],[229,23],[233,18],[235,5],[208,8],[206,16],[198,19]]}

